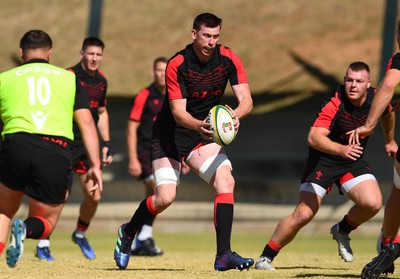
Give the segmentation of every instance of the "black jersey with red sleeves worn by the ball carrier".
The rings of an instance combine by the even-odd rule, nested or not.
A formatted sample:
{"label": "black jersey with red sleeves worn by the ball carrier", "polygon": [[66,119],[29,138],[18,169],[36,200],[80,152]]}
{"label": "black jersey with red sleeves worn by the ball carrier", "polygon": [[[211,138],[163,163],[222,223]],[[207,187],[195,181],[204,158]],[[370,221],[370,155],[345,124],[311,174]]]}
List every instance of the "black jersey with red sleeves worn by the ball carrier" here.
{"label": "black jersey with red sleeves worn by the ball carrier", "polygon": [[[179,153],[181,157],[182,153],[204,142],[197,131],[176,124],[169,100],[186,99],[186,111],[194,118],[203,120],[209,110],[219,104],[228,81],[231,86],[248,83],[242,61],[228,47],[217,45],[210,59],[201,63],[194,53],[193,44],[189,44],[168,61],[166,101],[153,132],[153,138],[155,135],[164,143],[161,149],[165,151],[167,148],[171,150],[168,154],[173,153],[173,157],[176,157]],[[172,152],[173,146],[177,148],[177,153]],[[159,157],[153,155],[154,158]]]}

